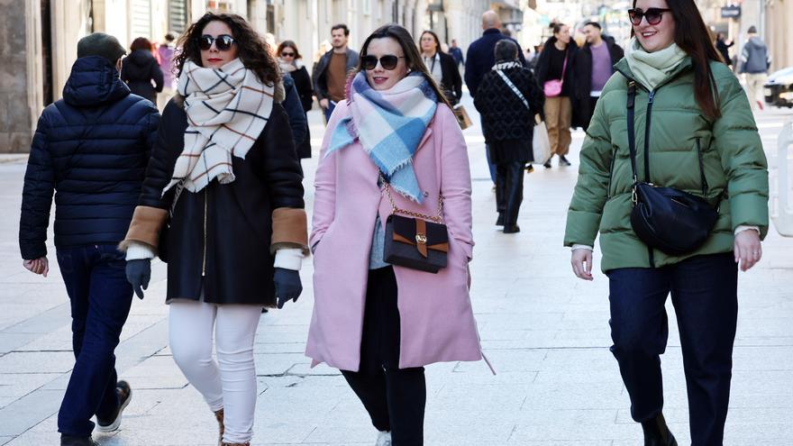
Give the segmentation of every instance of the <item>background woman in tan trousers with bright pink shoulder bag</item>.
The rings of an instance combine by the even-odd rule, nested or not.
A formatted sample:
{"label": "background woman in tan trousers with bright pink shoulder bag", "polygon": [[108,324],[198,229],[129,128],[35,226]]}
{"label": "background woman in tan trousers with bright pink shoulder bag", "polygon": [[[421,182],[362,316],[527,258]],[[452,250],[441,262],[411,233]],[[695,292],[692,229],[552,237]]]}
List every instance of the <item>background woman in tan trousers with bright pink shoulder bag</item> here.
{"label": "background woman in tan trousers with bright pink shoulder bag", "polygon": [[[575,94],[574,71],[579,47],[570,38],[570,26],[553,23],[551,27],[553,35],[545,41],[534,73],[545,92],[545,125],[551,141],[551,155],[559,157],[560,166],[570,166],[567,154],[572,141],[571,99]],[[551,168],[551,159],[545,162],[545,168]]]}

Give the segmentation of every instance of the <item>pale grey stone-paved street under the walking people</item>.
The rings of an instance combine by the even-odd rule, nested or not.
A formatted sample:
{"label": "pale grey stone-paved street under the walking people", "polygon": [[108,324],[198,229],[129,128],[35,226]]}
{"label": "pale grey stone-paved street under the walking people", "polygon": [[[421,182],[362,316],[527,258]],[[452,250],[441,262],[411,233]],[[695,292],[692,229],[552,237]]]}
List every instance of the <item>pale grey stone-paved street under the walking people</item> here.
{"label": "pale grey stone-paved street under the walking people", "polygon": [[[468,96],[471,119],[479,123]],[[767,154],[776,152],[789,111],[761,112]],[[324,132],[310,113],[314,158],[304,161],[308,212]],[[572,168],[535,166],[525,178],[522,232],[503,234],[479,125],[469,142],[474,205],[471,298],[492,375],[483,361],[430,366],[426,444],[635,446],[617,364],[608,350],[607,280],[575,278],[561,246],[583,132],[573,135]],[[0,163],[0,444],[57,444],[57,412],[73,364],[69,305],[50,236],[50,277],[23,269],[17,232],[24,157]],[[50,229],[51,234],[51,229]],[[793,239],[774,228],[764,257],[740,274],[740,315],[725,445],[793,444]],[[597,250],[596,250],[597,258]],[[597,259],[596,259],[597,263]],[[156,261],[144,300],[134,299],[116,350],[133,388],[121,429],[95,434],[103,446],[214,445],[216,423],[174,364],[168,347],[165,265]],[[254,444],[371,445],[376,431],[336,369],[311,369],[305,338],[313,305],[311,259],[296,304],[262,314],[255,357],[259,380]],[[662,357],[665,415],[690,444],[679,336],[668,304],[670,341]]]}

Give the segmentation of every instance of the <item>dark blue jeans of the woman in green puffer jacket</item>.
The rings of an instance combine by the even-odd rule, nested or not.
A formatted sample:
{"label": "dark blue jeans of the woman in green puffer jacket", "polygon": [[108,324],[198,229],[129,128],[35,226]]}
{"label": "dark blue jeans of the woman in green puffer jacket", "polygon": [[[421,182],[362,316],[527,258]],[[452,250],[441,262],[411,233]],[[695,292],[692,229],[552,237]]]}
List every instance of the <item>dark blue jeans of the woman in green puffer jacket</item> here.
{"label": "dark blue jeans of the woman in green puffer jacket", "polygon": [[631,397],[636,422],[661,414],[661,359],[672,297],[688,390],[692,446],[721,446],[730,399],[738,318],[738,269],[732,253],[697,256],[658,269],[607,273],[611,348]]}

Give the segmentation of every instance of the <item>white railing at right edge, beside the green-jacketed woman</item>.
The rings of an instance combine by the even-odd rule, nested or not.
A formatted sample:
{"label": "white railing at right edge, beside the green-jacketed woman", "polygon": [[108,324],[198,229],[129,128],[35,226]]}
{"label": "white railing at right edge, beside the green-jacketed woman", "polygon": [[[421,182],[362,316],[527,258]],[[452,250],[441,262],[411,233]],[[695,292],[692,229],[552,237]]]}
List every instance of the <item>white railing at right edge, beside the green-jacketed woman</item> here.
{"label": "white railing at right edge, beside the green-jacketed woman", "polygon": [[769,159],[770,169],[770,217],[783,237],[793,237],[793,121],[782,126],[777,140],[777,156]]}

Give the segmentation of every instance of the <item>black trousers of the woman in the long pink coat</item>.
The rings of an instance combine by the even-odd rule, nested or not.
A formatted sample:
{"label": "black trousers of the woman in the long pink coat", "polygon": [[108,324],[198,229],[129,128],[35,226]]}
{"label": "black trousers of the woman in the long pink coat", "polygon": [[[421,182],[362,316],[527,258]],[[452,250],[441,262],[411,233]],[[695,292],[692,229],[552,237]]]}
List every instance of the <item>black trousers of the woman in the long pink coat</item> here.
{"label": "black trousers of the woman in the long pink coat", "polygon": [[399,369],[399,310],[391,267],[369,270],[360,368],[342,370],[378,431],[390,431],[393,446],[424,444],[427,400],[424,368]]}

